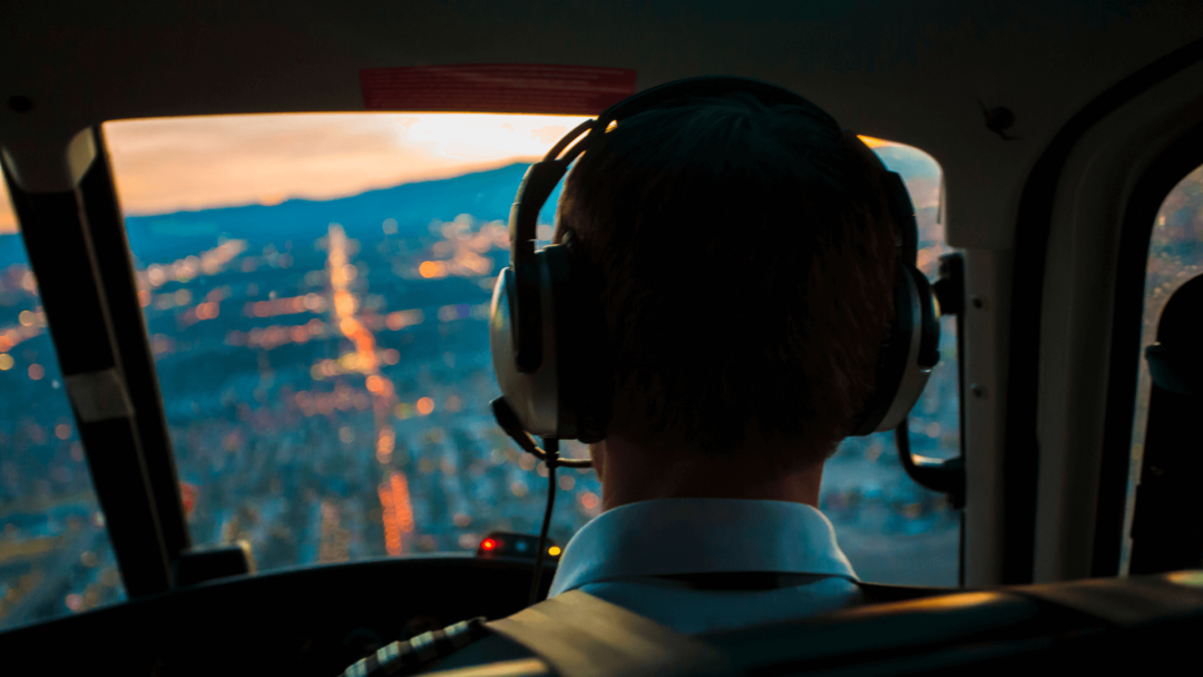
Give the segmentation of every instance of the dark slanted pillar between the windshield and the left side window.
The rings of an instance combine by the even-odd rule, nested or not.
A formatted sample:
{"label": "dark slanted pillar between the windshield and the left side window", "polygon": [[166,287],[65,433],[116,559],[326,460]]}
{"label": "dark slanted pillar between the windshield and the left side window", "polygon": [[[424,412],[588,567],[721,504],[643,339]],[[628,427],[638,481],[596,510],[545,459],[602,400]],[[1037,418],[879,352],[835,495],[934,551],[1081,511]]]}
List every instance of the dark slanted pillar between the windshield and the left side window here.
{"label": "dark slanted pillar between the windshield and the left side window", "polygon": [[[132,599],[171,589],[172,570],[190,541],[124,219],[99,126],[85,127],[66,146],[84,160],[70,186],[28,190],[7,159],[2,173],[38,280],[93,488]],[[94,293],[81,291],[88,281]],[[126,402],[113,405],[114,398]],[[82,402],[109,405],[91,406],[97,410],[82,416]]]}

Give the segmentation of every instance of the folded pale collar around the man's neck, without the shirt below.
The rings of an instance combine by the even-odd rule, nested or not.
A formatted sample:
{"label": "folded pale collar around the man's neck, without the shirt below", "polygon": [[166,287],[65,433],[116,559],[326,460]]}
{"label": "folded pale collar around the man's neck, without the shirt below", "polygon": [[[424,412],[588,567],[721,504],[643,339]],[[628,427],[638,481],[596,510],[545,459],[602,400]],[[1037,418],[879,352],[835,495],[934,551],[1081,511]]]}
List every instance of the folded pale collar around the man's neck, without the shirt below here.
{"label": "folded pale collar around the man's neck, without the shirt below", "polygon": [[621,505],[564,548],[549,596],[628,576],[774,571],[858,581],[818,510],[780,500],[669,498]]}

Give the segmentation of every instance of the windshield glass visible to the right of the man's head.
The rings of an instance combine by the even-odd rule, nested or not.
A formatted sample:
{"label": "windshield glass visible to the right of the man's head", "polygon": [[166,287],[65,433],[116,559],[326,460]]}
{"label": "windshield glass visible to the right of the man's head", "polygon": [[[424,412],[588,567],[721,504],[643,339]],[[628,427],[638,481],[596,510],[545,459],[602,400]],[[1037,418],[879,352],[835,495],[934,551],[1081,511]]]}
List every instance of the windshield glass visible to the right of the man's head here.
{"label": "windshield glass visible to the right of the man's head", "polygon": [[[911,146],[864,138],[891,171],[901,174],[919,224],[918,263],[935,280],[940,256],[950,251],[941,220],[940,165]],[[911,411],[911,451],[934,458],[960,453],[956,322],[944,317],[940,363]],[[960,516],[943,494],[914,483],[899,461],[893,433],[848,438],[823,470],[819,507],[836,541],[864,581],[912,586],[956,586]]]}

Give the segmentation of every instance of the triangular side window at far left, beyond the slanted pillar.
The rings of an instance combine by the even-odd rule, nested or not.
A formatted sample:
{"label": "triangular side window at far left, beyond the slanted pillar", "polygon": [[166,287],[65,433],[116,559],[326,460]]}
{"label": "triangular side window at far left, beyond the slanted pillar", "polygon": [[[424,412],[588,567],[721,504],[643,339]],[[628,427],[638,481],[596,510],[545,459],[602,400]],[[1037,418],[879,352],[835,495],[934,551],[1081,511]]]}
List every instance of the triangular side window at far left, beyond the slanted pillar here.
{"label": "triangular side window at far left, beyond the slanted pillar", "polygon": [[0,630],[125,598],[0,182]]}

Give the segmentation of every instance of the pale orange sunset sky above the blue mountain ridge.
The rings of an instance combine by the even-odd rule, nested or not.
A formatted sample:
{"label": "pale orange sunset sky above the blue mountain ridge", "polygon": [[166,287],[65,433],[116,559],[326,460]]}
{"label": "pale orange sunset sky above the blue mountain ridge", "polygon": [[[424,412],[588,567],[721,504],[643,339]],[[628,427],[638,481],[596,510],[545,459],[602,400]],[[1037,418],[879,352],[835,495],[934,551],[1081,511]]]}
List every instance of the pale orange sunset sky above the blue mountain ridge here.
{"label": "pale orange sunset sky above the blue mountain ridge", "polygon": [[[103,132],[122,208],[143,215],[295,197],[328,200],[533,161],[585,119],[480,113],[213,115],[113,121]],[[0,183],[0,233],[16,230]]]}

